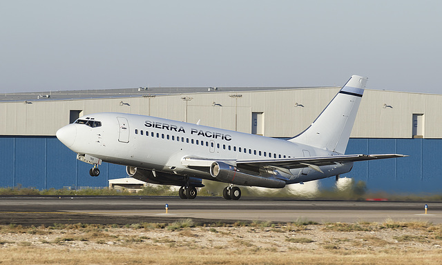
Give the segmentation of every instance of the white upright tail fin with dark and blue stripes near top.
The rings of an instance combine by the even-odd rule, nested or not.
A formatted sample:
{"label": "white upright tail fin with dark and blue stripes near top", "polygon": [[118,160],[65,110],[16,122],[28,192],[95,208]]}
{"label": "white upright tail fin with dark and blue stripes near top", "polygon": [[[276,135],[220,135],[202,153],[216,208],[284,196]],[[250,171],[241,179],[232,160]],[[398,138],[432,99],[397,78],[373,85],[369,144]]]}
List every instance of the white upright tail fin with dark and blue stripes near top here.
{"label": "white upright tail fin with dark and blue stripes near top", "polygon": [[289,141],[344,154],[367,79],[352,75],[316,120]]}

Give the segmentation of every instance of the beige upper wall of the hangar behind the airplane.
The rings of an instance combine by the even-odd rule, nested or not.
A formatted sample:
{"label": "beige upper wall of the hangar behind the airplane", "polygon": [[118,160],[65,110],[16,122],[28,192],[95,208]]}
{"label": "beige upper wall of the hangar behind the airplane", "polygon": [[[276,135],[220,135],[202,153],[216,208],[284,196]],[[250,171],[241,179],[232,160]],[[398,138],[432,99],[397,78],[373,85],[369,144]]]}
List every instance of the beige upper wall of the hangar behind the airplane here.
{"label": "beige upper wall of the hangar behind the airplane", "polygon": [[[265,135],[293,137],[305,130],[339,88],[206,92],[156,97],[0,102],[0,135],[55,135],[68,124],[70,110],[126,112],[251,133],[251,113],[264,112]],[[234,99],[229,95],[240,94]],[[123,101],[123,104],[120,102]],[[238,103],[238,108],[236,104]],[[298,104],[295,107],[295,104]],[[384,104],[386,104],[384,106]],[[442,138],[442,95],[365,90],[352,137],[411,138],[412,115],[424,115],[424,137]]]}

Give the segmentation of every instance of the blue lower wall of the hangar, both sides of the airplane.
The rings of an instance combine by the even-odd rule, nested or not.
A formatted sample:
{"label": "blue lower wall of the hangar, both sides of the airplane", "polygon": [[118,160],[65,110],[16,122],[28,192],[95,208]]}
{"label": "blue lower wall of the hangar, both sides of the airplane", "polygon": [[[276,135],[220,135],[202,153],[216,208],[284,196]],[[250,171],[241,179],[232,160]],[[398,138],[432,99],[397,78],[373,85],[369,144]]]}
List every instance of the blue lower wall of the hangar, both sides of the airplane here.
{"label": "blue lower wall of the hangar, both sides of the airplane", "polygon": [[[394,193],[442,192],[442,139],[350,139],[347,154],[399,153],[399,159],[356,162],[341,177],[363,180],[371,191]],[[90,165],[55,137],[0,137],[0,186],[38,189],[108,186],[108,179],[126,176],[124,166],[103,163],[99,177]],[[334,177],[321,181],[334,184]]]}

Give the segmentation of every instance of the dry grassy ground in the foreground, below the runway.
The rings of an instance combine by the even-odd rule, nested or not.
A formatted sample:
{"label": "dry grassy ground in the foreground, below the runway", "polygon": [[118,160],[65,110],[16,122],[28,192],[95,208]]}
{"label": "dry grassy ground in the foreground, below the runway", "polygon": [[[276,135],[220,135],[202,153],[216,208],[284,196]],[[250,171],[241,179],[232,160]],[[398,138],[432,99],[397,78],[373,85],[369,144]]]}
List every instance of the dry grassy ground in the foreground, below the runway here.
{"label": "dry grassy ground in the foreground, below the runway", "polygon": [[0,264],[442,264],[441,225],[0,226]]}

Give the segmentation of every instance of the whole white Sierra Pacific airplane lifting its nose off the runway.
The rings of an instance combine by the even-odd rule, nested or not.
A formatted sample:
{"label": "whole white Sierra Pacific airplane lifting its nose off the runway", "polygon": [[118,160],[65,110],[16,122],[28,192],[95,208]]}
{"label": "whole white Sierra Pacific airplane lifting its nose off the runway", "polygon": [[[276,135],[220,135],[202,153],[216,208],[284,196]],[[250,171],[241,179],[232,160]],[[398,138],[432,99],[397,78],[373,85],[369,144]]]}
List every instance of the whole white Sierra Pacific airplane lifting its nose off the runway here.
{"label": "whole white Sierra Pacific airplane lifting its nose off the runway", "polygon": [[276,139],[144,115],[103,112],[79,117],[57,138],[92,164],[126,166],[142,181],[180,186],[194,199],[202,179],[224,182],[224,199],[241,197],[238,186],[284,188],[348,173],[355,161],[405,157],[345,155],[367,77],[353,75],[315,121],[290,139]]}

